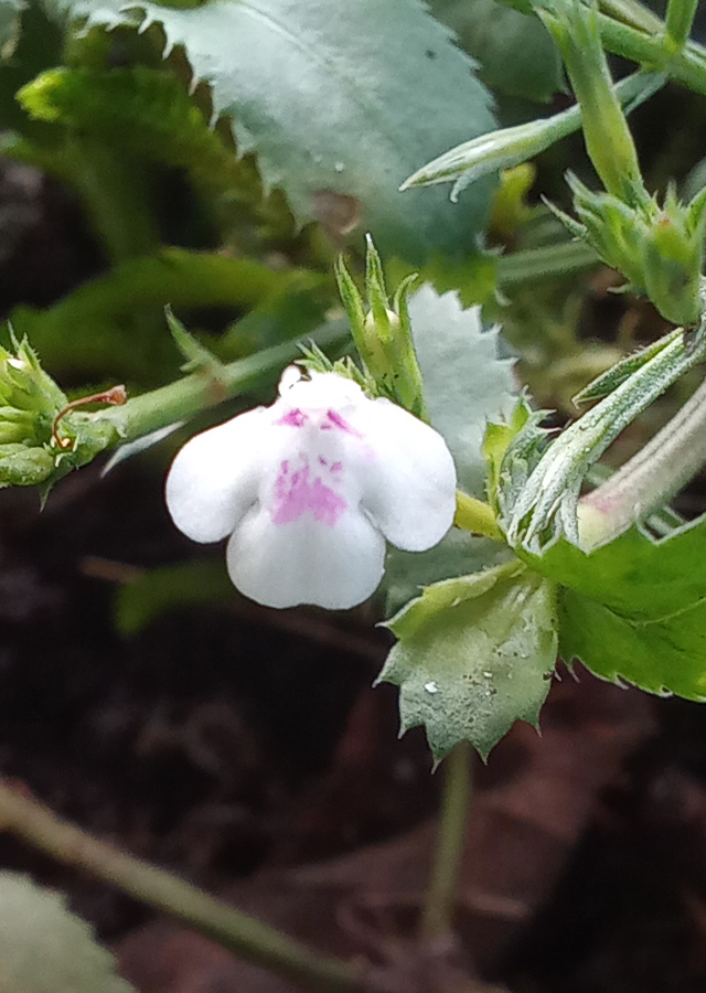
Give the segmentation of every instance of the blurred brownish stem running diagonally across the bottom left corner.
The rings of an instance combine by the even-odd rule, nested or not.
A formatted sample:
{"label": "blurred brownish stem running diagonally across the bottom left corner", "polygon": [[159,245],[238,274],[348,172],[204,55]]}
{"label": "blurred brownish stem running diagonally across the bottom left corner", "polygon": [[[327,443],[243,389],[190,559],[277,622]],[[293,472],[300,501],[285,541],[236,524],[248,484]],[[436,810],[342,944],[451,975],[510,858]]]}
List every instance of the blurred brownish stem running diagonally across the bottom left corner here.
{"label": "blurred brownish stem running diagonally across the bottom left corner", "polygon": [[319,955],[163,869],[98,841],[0,779],[0,824],[58,862],[75,866],[182,921],[234,954],[321,993],[370,989],[359,963]]}

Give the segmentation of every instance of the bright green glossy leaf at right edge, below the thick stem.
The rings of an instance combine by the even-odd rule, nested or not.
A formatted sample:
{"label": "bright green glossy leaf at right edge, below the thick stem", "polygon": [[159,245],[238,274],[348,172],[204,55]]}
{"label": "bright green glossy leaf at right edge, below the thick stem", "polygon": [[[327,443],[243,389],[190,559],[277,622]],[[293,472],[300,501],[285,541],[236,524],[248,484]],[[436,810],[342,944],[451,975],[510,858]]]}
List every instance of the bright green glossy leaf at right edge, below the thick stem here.
{"label": "bright green glossy leaf at right edge, below the thick stem", "polygon": [[526,557],[564,587],[567,662],[651,693],[706,700],[706,517],[659,542],[633,527],[588,554],[559,541]]}

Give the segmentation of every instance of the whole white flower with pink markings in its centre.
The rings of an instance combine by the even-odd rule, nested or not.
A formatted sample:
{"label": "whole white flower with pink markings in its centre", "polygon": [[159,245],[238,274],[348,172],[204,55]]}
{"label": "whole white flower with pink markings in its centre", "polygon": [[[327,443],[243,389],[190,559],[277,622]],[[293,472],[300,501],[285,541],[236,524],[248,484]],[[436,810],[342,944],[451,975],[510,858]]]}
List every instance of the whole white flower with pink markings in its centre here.
{"label": "whole white flower with pink markings in its centre", "polygon": [[196,542],[231,535],[235,586],[269,607],[354,607],[384,573],[385,540],[441,541],[456,470],[437,431],[335,373],[287,369],[271,407],[192,438],[167,478],[167,506]]}

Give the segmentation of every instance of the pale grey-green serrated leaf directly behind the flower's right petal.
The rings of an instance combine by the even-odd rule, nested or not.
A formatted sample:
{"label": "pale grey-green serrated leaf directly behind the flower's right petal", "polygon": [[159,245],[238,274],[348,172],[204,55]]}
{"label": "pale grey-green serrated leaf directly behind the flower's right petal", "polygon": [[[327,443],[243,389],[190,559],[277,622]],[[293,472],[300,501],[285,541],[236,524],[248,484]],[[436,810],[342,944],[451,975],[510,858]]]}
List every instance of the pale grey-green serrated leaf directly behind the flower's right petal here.
{"label": "pale grey-green serrated leaf directly behind the flower's right petal", "polygon": [[[461,489],[483,498],[485,425],[513,408],[514,362],[500,357],[498,329],[483,329],[480,308],[464,309],[454,292],[440,296],[422,286],[409,298],[409,317],[431,424],[451,450]],[[509,554],[495,542],[453,531],[429,552],[391,549],[388,607],[397,609],[421,586],[496,565]]]}

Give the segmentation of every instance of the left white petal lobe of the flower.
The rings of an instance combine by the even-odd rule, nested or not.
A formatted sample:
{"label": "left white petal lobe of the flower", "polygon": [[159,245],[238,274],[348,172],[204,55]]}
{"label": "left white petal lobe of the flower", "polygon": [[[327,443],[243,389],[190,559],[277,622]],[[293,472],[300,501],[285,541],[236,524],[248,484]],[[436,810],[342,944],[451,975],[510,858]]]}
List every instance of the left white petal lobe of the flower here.
{"label": "left white petal lobe of the flower", "polygon": [[257,499],[268,424],[258,407],[196,435],[176,453],[167,477],[167,509],[192,541],[224,538]]}

